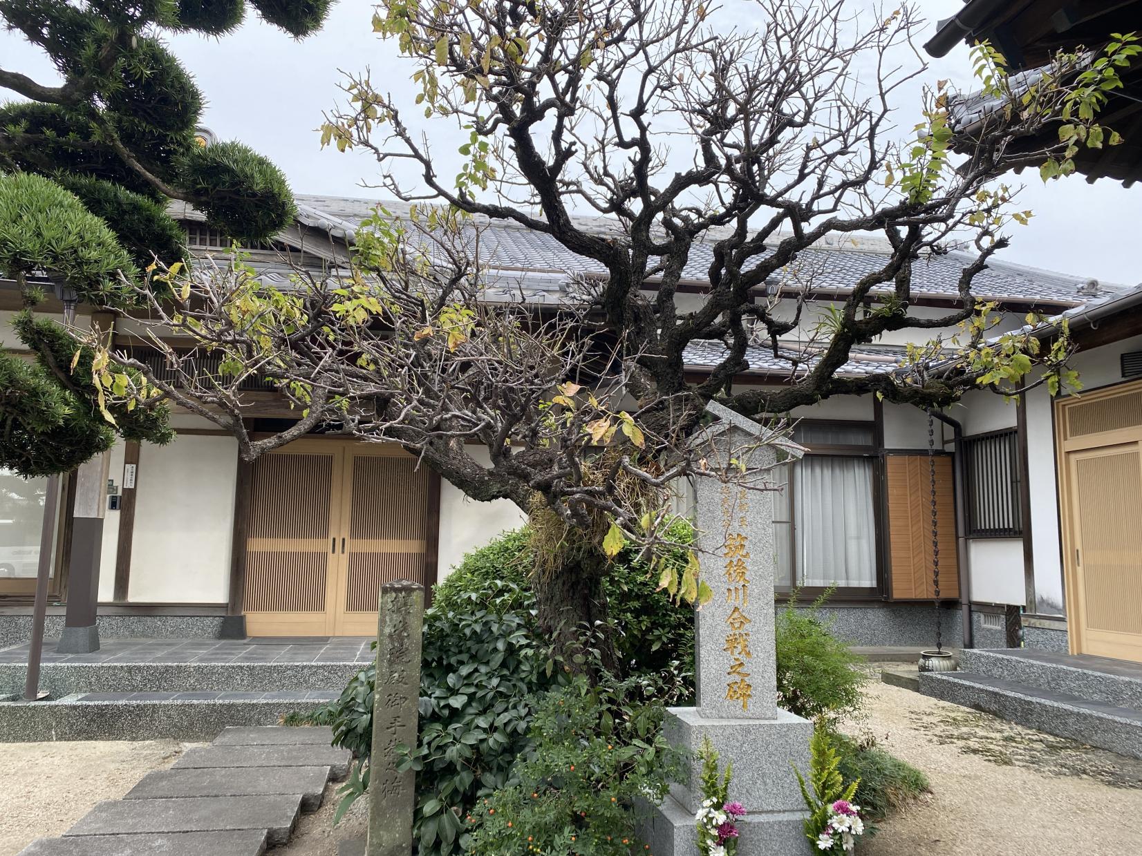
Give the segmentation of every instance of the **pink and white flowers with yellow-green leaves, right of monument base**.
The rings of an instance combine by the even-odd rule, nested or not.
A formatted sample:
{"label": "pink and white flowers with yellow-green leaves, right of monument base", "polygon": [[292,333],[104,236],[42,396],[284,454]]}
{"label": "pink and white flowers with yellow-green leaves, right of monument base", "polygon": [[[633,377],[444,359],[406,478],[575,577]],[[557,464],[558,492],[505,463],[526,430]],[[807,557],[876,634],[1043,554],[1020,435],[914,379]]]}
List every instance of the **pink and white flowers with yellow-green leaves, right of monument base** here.
{"label": "pink and white flowers with yellow-green leaves, right of monument base", "polygon": [[841,756],[828,728],[818,724],[809,746],[810,781],[806,782],[794,766],[802,799],[809,808],[805,835],[821,853],[850,853],[856,846],[856,837],[864,832],[860,806],[852,802],[860,780],[845,784],[841,775]]}

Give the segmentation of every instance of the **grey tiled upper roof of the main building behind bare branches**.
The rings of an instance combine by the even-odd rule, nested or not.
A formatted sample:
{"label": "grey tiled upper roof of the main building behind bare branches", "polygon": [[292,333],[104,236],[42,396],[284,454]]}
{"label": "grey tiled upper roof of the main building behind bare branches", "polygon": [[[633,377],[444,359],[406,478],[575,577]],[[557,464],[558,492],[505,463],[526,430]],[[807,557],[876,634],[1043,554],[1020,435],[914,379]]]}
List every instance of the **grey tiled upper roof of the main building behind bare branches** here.
{"label": "grey tiled upper roof of the main building behind bare branches", "polygon": [[[306,225],[328,228],[352,240],[362,219],[372,213],[376,202],[335,196],[297,197],[299,218]],[[394,216],[408,212],[403,203],[385,202]],[[620,235],[618,224],[603,217],[576,217],[576,225],[596,234]],[[493,272],[557,274],[565,277],[603,274],[604,268],[586,259],[550,235],[514,223],[484,223],[481,234],[482,259]],[[694,284],[708,282],[708,269],[718,235],[694,245],[683,272]],[[883,239],[828,235],[818,245],[803,251],[797,260],[779,272],[769,283],[771,291],[845,292],[863,275],[884,264],[888,247]],[[971,261],[963,252],[928,256],[914,265],[914,294],[928,298],[955,298],[960,270]],[[1032,267],[992,261],[975,277],[973,292],[981,299],[1019,304],[1077,306],[1116,290],[1112,285],[1091,285],[1087,277],[1052,273]],[[890,289],[884,289],[888,291]]]}

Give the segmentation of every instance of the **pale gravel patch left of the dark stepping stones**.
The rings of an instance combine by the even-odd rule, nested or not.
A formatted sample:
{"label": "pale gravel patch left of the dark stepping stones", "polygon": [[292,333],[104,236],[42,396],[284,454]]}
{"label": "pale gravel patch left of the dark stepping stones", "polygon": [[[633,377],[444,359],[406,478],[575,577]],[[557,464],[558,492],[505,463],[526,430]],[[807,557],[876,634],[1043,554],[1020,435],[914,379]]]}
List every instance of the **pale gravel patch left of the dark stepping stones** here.
{"label": "pale gravel patch left of the dark stepping stones", "polygon": [[0,743],[0,856],[66,832],[100,800],[119,799],[191,744],[78,741]]}

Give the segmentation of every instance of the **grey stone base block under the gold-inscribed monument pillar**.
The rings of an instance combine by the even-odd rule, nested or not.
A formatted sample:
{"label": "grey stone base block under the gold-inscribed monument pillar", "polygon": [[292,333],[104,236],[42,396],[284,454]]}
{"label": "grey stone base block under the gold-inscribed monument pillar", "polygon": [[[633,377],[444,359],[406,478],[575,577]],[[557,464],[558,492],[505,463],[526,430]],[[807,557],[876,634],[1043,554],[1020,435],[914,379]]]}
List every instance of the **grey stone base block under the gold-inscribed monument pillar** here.
{"label": "grey stone base block under the gold-inscribed monument pillar", "polygon": [[730,799],[749,813],[738,822],[739,856],[810,856],[812,843],[802,822],[809,816],[794,766],[809,775],[809,741],[813,724],[778,710],[777,719],[711,719],[697,708],[667,711],[664,733],[671,745],[691,754],[682,782],[671,785],[662,805],[651,811],[642,837],[653,856],[697,856],[694,814],[701,805],[702,738],[709,737],[718,766],[733,765]]}

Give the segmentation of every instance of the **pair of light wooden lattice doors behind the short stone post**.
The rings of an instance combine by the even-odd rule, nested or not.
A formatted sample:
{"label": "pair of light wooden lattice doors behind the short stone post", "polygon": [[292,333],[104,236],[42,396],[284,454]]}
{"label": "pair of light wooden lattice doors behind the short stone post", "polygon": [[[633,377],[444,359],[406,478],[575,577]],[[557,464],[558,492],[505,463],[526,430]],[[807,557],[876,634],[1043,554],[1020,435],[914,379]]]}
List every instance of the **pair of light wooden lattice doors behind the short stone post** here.
{"label": "pair of light wooden lattice doors behind the short stone post", "polygon": [[396,446],[340,439],[305,438],[255,461],[247,632],[372,636],[383,582],[432,583],[433,478]]}

